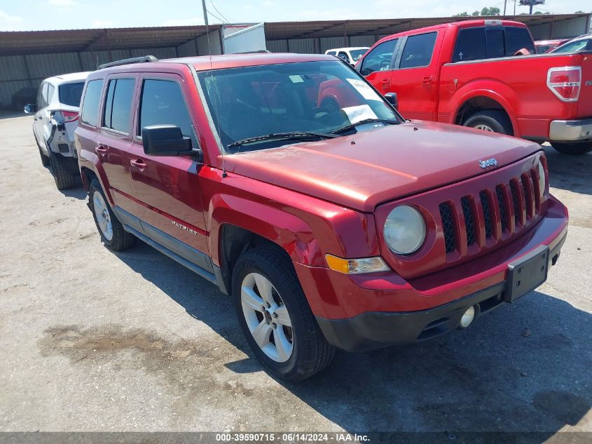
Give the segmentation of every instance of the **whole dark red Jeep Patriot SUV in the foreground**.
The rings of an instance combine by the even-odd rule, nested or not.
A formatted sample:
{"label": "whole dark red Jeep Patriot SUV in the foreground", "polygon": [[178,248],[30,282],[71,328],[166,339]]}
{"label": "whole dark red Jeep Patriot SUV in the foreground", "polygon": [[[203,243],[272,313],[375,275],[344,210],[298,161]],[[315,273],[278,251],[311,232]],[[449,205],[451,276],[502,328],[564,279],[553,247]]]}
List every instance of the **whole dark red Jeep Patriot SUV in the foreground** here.
{"label": "whole dark red Jeep Patriot SUV in the foreground", "polygon": [[[567,210],[536,143],[406,121],[327,55],[142,61],[85,84],[102,241],[140,238],[219,285],[279,377],[467,328],[559,256]],[[322,105],[336,90],[347,104]]]}

